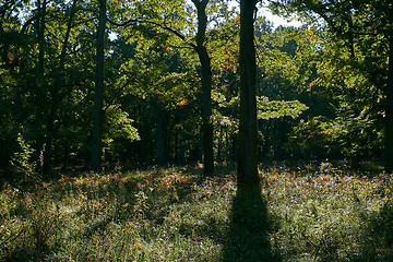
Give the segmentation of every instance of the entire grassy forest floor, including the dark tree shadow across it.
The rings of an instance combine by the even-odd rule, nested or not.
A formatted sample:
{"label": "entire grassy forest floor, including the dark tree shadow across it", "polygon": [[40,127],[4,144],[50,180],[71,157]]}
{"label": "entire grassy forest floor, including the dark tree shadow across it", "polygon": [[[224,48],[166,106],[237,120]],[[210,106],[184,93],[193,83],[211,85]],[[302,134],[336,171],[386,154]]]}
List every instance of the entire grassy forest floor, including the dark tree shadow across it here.
{"label": "entire grassy forest floor, including the dark tree shadow across it", "polygon": [[393,261],[393,181],[366,169],[276,163],[252,189],[234,167],[4,183],[0,261]]}

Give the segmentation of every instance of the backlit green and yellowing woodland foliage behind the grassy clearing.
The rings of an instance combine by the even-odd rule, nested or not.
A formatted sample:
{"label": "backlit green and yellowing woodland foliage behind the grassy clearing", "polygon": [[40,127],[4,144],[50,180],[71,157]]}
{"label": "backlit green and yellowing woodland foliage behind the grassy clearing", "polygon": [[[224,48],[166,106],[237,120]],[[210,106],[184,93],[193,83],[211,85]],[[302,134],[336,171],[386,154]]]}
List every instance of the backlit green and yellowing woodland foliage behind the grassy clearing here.
{"label": "backlit green and yellowing woodland foliage behind the grassy clearing", "polygon": [[[105,82],[103,105],[94,107],[103,2]],[[298,28],[274,28],[263,16],[254,22],[258,160],[382,159],[391,136],[385,124],[390,16],[380,1],[311,2],[270,2],[278,13],[298,12],[303,19]],[[181,0],[1,3],[2,176],[88,167],[97,148],[110,168],[203,163],[206,146],[213,146],[215,163],[237,160],[236,5],[213,0],[203,1],[203,9],[202,2]],[[352,16],[340,8],[353,10]],[[92,146],[94,111],[103,115],[102,148]],[[212,145],[205,143],[209,132]]]}

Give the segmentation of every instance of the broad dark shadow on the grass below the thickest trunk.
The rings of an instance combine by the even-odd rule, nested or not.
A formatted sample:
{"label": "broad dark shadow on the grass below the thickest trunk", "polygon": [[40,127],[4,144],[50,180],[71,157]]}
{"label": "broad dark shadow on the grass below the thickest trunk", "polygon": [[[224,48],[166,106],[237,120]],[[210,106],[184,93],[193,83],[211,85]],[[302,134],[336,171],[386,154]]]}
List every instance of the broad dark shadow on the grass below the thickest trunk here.
{"label": "broad dark shadow on the grass below the thickest trunk", "polygon": [[271,229],[260,184],[238,184],[223,250],[224,261],[282,261],[281,255],[272,251]]}

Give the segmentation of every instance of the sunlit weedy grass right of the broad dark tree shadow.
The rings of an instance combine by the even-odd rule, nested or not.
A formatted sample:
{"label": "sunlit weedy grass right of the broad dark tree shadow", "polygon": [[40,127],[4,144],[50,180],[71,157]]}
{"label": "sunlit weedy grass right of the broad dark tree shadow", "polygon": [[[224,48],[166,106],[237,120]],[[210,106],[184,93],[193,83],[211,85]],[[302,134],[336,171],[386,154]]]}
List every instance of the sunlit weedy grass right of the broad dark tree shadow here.
{"label": "sunlit weedy grass right of the broad dark tree shadow", "polygon": [[331,170],[263,174],[269,209],[277,218],[272,246],[288,261],[390,261],[392,245],[376,234],[376,225],[392,202],[383,192],[391,178],[326,167]]}

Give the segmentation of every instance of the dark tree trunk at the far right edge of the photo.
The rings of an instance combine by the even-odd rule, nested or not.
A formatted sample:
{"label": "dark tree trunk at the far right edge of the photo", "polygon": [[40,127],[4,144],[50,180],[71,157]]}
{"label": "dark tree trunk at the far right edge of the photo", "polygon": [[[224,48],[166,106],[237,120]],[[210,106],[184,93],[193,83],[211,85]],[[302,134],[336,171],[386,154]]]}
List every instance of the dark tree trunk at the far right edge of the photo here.
{"label": "dark tree trunk at the far right edge of the photo", "polygon": [[393,36],[389,38],[389,69],[385,102],[385,171],[393,172]]}

